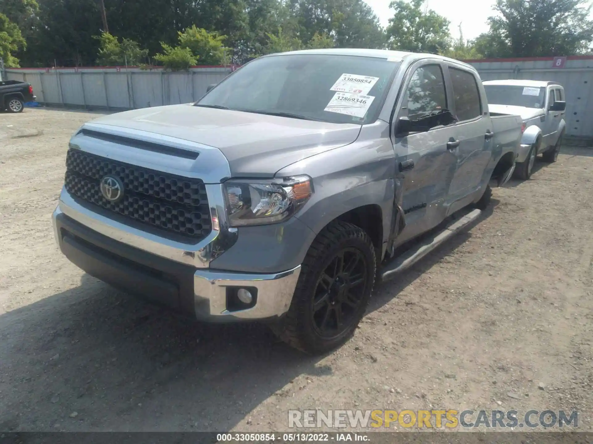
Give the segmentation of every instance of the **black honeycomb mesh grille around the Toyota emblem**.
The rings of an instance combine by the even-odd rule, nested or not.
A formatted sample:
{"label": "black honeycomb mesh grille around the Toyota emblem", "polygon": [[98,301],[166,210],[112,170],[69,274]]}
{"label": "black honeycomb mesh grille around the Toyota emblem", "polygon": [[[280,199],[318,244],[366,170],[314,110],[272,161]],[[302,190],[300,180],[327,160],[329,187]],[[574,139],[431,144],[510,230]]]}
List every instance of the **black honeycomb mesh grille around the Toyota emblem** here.
{"label": "black honeycomb mesh grille around the Toyota emblem", "polygon": [[[117,202],[101,194],[100,182],[107,175],[123,184],[123,198]],[[201,240],[212,231],[206,187],[199,179],[69,149],[64,182],[79,200],[170,233]]]}

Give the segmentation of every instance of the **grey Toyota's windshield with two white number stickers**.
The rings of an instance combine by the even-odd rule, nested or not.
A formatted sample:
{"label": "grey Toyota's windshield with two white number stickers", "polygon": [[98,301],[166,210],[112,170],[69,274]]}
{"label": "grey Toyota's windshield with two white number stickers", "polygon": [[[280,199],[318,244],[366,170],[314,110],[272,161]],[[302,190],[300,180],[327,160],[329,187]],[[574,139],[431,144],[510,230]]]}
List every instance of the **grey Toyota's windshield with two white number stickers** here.
{"label": "grey Toyota's windshield with two white number stickers", "polygon": [[195,105],[331,123],[372,123],[398,66],[375,57],[262,57],[228,76]]}

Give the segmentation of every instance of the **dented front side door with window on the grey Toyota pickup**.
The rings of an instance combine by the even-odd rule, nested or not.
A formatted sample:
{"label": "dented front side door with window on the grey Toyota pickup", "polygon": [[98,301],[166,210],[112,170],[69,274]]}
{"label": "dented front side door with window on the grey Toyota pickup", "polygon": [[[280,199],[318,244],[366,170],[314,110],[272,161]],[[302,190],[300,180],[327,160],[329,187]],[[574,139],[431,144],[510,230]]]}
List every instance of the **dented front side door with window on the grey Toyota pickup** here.
{"label": "dented front side door with window on the grey Toyota pickup", "polygon": [[[418,62],[404,80],[392,131],[396,131],[401,117],[415,120],[448,108],[444,66],[436,60]],[[445,217],[443,204],[457,165],[456,153],[447,146],[452,136],[451,126],[437,126],[403,137],[393,134],[396,171],[403,188],[401,207],[406,219],[398,243],[431,229]]]}

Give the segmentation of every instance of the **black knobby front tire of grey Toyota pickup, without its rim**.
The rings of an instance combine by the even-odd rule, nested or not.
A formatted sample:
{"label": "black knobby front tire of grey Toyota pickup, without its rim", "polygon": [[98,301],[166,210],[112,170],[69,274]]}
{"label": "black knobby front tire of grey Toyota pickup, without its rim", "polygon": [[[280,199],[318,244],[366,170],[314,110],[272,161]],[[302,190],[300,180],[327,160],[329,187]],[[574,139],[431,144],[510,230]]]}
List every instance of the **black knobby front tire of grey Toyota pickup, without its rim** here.
{"label": "black knobby front tire of grey Toyota pickup, without its rim", "polygon": [[[366,269],[364,294],[359,305],[352,311],[352,320],[335,337],[326,338],[317,333],[313,320],[314,298],[321,275],[326,267],[344,249],[356,249],[364,257]],[[301,265],[301,274],[292,297],[288,312],[270,328],[279,339],[305,353],[318,355],[326,353],[345,343],[365,314],[372,287],[375,282],[377,259],[371,238],[361,228],[342,221],[331,223],[315,238],[305,260]],[[337,324],[337,322],[336,322]]]}

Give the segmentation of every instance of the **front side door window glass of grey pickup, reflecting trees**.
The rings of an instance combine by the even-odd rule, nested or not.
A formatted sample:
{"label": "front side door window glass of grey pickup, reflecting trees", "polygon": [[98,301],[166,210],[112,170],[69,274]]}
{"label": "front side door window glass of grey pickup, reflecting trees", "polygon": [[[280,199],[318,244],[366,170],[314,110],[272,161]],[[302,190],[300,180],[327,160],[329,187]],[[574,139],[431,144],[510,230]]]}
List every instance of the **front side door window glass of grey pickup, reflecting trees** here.
{"label": "front side door window glass of grey pickup, reflecting trees", "polygon": [[422,117],[423,114],[441,111],[447,108],[445,81],[439,65],[426,65],[416,69],[410,79],[400,117],[410,120]]}

